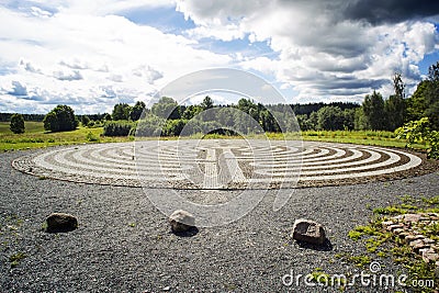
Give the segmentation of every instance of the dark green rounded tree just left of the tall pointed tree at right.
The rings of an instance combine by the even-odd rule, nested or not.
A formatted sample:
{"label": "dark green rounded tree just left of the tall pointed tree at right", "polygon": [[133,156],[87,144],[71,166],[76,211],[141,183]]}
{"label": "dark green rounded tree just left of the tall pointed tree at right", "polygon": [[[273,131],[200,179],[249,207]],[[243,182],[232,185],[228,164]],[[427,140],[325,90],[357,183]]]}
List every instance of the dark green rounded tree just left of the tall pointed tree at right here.
{"label": "dark green rounded tree just left of the tall pointed tree at right", "polygon": [[372,131],[382,131],[386,128],[384,100],[380,92],[373,91],[372,95],[365,95],[363,112],[368,125]]}

